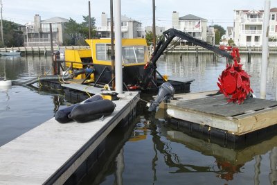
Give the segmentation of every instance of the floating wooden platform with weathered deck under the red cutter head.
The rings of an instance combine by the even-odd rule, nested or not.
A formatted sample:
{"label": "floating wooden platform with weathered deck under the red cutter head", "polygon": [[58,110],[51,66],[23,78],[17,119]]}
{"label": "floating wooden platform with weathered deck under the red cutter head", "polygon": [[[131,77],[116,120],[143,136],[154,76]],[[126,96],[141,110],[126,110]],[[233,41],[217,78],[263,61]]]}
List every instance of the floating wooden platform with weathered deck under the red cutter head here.
{"label": "floating wooden platform with weathered deck under the red cutter head", "polygon": [[177,95],[178,100],[167,105],[167,113],[179,120],[177,124],[227,140],[277,125],[276,101],[247,98],[238,105],[227,103],[223,95],[211,96],[213,93]]}

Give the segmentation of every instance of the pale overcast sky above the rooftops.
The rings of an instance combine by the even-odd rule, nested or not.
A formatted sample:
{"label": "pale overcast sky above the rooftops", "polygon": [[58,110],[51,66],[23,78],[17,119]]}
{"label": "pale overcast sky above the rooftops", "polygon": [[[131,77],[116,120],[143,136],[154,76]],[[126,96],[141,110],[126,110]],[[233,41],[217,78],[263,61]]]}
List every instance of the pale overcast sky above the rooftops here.
{"label": "pale overcast sky above the rooftops", "polygon": [[[51,17],[71,17],[82,22],[82,15],[88,15],[87,0],[1,0],[3,19],[26,24],[39,14],[43,19]],[[96,26],[100,26],[101,12],[109,17],[110,0],[91,0],[91,17],[96,18]],[[179,17],[193,14],[208,20],[208,25],[219,24],[233,26],[233,10],[263,10],[264,0],[156,0],[157,26],[171,26],[172,12],[179,12]],[[271,0],[271,8],[277,8],[277,0]],[[152,26],[152,0],[121,0],[121,14],[143,26]]]}

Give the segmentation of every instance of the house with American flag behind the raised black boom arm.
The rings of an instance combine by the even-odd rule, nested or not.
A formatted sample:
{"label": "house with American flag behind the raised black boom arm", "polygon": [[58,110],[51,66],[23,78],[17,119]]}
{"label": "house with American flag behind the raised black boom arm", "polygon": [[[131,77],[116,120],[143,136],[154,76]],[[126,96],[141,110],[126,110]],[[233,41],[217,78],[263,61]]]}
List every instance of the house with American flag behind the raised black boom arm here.
{"label": "house with American flag behind the raised black boom arm", "polygon": [[197,39],[214,44],[215,33],[213,28],[208,28],[207,19],[189,14],[179,17],[179,12],[172,12],[172,28],[189,33]]}

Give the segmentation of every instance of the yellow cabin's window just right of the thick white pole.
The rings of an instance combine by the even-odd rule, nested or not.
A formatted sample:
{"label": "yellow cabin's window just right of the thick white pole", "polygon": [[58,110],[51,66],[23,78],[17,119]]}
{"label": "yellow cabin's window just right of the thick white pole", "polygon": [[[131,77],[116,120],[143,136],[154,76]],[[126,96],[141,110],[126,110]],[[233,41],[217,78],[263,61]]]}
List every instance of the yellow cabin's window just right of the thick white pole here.
{"label": "yellow cabin's window just right of the thick white pole", "polygon": [[144,46],[127,46],[122,48],[123,64],[144,62]]}

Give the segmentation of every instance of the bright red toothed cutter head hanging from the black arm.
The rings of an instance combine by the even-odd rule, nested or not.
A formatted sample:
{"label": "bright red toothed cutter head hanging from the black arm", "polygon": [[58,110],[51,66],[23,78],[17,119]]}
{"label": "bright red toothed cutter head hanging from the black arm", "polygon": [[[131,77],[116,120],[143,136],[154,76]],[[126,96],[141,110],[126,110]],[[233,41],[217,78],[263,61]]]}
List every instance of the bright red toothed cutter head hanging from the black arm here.
{"label": "bright red toothed cutter head hanging from the black arm", "polygon": [[229,98],[228,103],[241,104],[253,92],[250,87],[250,76],[242,69],[238,48],[228,48],[226,50],[232,50],[231,55],[234,63],[227,64],[226,69],[222,71],[222,75],[218,78],[217,85],[220,87],[220,92]]}

